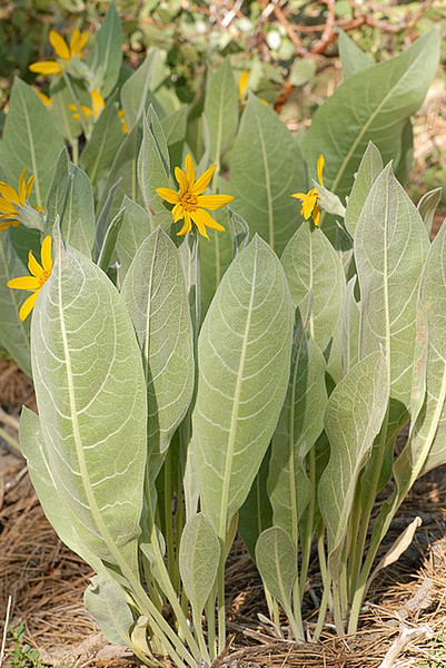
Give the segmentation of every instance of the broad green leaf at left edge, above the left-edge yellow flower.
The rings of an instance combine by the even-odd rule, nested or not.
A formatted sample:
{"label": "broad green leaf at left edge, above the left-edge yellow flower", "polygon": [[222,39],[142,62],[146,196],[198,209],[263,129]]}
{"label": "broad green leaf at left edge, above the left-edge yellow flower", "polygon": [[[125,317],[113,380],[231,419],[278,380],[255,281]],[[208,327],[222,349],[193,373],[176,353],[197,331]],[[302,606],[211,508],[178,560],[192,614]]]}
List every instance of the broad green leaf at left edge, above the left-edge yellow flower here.
{"label": "broad green leaf at left edge, above the left-edge yellow flower", "polygon": [[17,189],[27,167],[27,177],[34,176],[29,199],[43,206],[62,148],[63,140],[43,102],[28,84],[16,78],[0,144],[0,165],[8,184]]}

